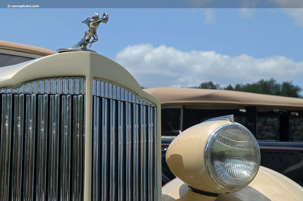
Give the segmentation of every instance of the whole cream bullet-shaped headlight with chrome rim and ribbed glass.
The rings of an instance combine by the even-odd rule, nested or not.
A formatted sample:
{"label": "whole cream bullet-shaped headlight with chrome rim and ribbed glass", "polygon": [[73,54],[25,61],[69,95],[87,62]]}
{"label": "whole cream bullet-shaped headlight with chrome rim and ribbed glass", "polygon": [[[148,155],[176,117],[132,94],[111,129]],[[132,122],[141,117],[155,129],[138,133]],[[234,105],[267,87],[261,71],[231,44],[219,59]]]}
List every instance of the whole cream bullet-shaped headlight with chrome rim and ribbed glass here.
{"label": "whole cream bullet-shaped headlight with chrome rim and ribbed glass", "polygon": [[232,193],[255,178],[260,149],[251,132],[231,115],[183,131],[168,147],[166,161],[172,173],[193,189]]}

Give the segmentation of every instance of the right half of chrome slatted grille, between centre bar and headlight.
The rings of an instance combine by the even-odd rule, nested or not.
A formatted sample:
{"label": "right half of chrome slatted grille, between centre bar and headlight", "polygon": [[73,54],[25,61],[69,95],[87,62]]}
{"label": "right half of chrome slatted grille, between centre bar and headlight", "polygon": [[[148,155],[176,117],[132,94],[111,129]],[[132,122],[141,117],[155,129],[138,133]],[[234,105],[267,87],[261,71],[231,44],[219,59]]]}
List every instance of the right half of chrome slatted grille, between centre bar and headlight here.
{"label": "right half of chrome slatted grille, between centre bar and headlight", "polygon": [[156,107],[93,81],[92,200],[157,200]]}

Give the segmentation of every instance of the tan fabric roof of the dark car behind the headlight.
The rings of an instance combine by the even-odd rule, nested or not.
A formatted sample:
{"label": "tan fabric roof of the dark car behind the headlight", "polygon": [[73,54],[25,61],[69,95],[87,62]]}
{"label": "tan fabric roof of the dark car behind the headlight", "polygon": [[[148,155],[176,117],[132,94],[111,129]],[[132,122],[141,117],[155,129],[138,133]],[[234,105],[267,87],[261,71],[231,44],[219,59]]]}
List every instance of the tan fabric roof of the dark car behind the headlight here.
{"label": "tan fabric roof of the dark car behind the headlight", "polygon": [[160,99],[161,106],[184,105],[239,109],[245,106],[256,106],[257,109],[303,110],[302,98],[194,88],[160,87],[144,89],[144,91]]}

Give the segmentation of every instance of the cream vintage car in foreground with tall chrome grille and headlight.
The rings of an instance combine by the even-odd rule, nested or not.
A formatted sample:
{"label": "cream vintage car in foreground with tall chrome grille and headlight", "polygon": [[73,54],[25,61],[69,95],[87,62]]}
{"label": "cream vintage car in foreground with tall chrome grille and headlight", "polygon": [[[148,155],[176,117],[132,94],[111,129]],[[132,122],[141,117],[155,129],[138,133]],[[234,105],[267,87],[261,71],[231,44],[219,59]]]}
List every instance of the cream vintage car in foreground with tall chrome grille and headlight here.
{"label": "cream vintage car in foreground with tall chrome grille and headlight", "polygon": [[301,200],[300,185],[260,167],[255,137],[233,115],[175,138],[167,161],[178,179],[161,189],[160,100],[87,49],[86,33],[0,68],[0,200]]}

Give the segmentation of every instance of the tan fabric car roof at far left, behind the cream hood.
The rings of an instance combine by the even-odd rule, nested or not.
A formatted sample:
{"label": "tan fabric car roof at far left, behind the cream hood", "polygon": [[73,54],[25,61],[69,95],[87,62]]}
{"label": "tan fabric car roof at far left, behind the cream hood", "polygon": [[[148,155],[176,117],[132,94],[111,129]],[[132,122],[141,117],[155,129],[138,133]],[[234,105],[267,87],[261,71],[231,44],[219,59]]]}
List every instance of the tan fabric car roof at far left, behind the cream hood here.
{"label": "tan fabric car roof at far left, behind the cream hood", "polygon": [[31,53],[31,54],[38,54],[41,56],[56,54],[56,52],[45,49],[45,48],[39,48],[39,47],[31,46],[31,45],[13,43],[13,42],[8,42],[8,41],[0,41],[0,49],[27,52],[27,53]]}

